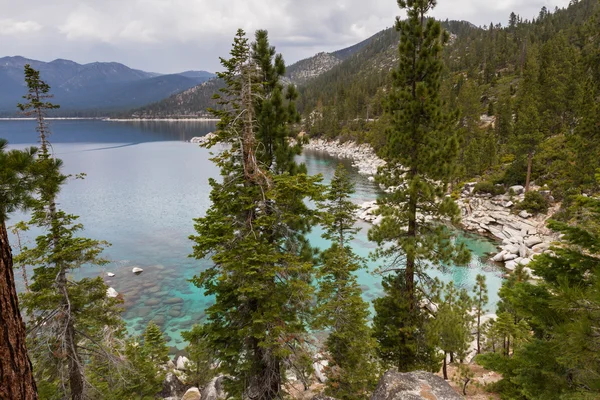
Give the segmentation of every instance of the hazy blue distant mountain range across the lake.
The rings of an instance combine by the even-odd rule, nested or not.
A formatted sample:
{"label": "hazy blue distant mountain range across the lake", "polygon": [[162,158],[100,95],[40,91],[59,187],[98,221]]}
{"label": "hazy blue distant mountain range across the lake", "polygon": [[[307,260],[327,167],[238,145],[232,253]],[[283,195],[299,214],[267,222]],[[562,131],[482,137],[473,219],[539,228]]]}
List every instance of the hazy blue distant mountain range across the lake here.
{"label": "hazy blue distant mountain range across the lake", "polygon": [[215,75],[206,71],[157,74],[115,62],[78,64],[57,59],[51,62],[24,57],[0,58],[0,116],[16,113],[26,92],[23,67],[30,64],[51,86],[53,102],[61,108],[53,115],[106,115],[153,103],[197,86]]}

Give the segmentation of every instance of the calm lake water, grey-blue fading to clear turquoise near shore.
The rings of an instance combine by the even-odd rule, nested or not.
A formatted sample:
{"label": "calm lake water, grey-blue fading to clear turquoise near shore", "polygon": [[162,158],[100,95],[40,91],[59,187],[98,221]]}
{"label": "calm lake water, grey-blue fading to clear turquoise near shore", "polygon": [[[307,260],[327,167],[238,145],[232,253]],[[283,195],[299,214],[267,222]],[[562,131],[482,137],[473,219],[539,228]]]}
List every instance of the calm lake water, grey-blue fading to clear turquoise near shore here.
{"label": "calm lake water, grey-blue fading to clear turquoise near shore", "polygon": [[[149,320],[157,322],[168,335],[171,346],[182,348],[179,332],[201,321],[212,301],[187,280],[205,269],[207,260],[189,258],[194,233],[193,218],[204,215],[210,206],[209,177],[218,169],[209,160],[208,150],[184,142],[214,130],[211,122],[105,122],[52,121],[53,150],[64,161],[65,172],[87,174],[85,180],[72,180],[60,195],[60,206],[80,215],[85,235],[112,243],[105,256],[111,260],[100,268],[83,268],[82,276],[114,272],[106,282],[125,296],[124,318],[131,333],[139,333]],[[0,137],[14,147],[36,143],[32,121],[0,121]],[[318,152],[306,152],[299,160],[311,174],[322,174],[325,182],[333,176],[338,159]],[[375,198],[376,185],[356,173],[343,161],[356,184],[356,202]],[[13,216],[9,221],[23,218]],[[369,225],[358,222],[361,231],[354,240],[355,251],[367,257],[374,245],[366,238]],[[29,236],[31,239],[36,232]],[[30,241],[31,241],[30,239]],[[327,246],[320,231],[310,236],[317,246]],[[471,290],[475,276],[487,277],[490,309],[495,309],[502,271],[482,260],[495,245],[478,236],[460,235],[473,251],[468,267],[431,270],[444,281],[453,280]],[[131,269],[144,269],[134,276]],[[359,272],[366,300],[381,294],[381,277],[369,270]],[[17,278],[20,274],[17,273]]]}

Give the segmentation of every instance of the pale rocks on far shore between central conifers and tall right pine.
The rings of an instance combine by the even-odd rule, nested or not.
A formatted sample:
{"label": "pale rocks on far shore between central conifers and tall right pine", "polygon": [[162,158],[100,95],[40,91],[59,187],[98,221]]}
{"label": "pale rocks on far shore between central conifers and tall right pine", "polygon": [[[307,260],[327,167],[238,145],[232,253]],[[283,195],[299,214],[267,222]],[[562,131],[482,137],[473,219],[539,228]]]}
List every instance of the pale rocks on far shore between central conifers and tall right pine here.
{"label": "pale rocks on far shore between central conifers and tall right pine", "polygon": [[358,173],[361,175],[376,175],[377,169],[385,165],[385,161],[377,157],[373,148],[368,144],[312,139],[304,148],[322,151],[333,157],[350,159],[352,160],[352,166],[358,168]]}

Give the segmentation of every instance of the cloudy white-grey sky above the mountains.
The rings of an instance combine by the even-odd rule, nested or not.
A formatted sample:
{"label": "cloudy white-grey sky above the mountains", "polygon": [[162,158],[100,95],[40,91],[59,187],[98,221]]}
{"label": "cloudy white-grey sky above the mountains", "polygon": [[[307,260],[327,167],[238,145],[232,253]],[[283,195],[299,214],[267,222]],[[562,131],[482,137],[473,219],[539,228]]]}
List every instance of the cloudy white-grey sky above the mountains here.
{"label": "cloudy white-grey sky above the mountains", "polygon": [[[439,0],[433,15],[476,25],[569,0]],[[117,61],[154,72],[219,69],[237,28],[268,29],[288,64],[393,24],[394,0],[0,0],[0,57]]]}

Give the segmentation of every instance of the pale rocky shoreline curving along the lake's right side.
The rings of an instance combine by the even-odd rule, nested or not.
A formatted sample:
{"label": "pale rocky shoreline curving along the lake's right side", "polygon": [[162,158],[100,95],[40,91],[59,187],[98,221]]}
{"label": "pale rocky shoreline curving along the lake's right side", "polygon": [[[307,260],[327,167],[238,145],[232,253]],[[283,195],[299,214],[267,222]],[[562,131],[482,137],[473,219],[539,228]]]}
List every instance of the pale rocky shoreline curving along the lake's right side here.
{"label": "pale rocky shoreline curving along the lake's right side", "polygon": [[[373,180],[377,169],[385,165],[385,161],[377,157],[368,144],[314,139],[304,148],[351,159],[352,165],[358,168],[360,174],[370,175]],[[492,261],[503,262],[510,272],[514,271],[517,265],[523,265],[524,270],[536,278],[526,265],[536,254],[549,252],[551,244],[559,240],[559,237],[546,227],[548,219],[557,211],[558,206],[551,207],[546,214],[536,216],[526,211],[516,213],[512,209],[518,202],[523,201],[522,186],[513,186],[505,194],[492,196],[475,194],[476,183],[467,183],[457,201],[461,209],[463,228],[502,242],[499,246],[500,251],[491,258]],[[376,200],[364,202],[360,205],[357,218],[378,224],[382,217],[376,215],[377,209]]]}

